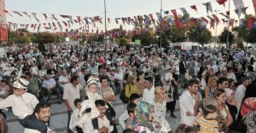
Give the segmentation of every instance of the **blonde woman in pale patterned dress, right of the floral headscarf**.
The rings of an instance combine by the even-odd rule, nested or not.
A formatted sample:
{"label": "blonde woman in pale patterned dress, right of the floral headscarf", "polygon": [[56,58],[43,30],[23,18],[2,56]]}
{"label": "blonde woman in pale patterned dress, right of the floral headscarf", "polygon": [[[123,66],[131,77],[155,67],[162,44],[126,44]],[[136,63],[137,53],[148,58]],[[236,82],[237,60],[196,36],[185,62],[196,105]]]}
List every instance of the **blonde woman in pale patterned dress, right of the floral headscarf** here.
{"label": "blonde woman in pale patterned dress, right of the floral headscarf", "polygon": [[158,86],[154,90],[154,131],[168,132],[172,129],[166,121],[166,89]]}

